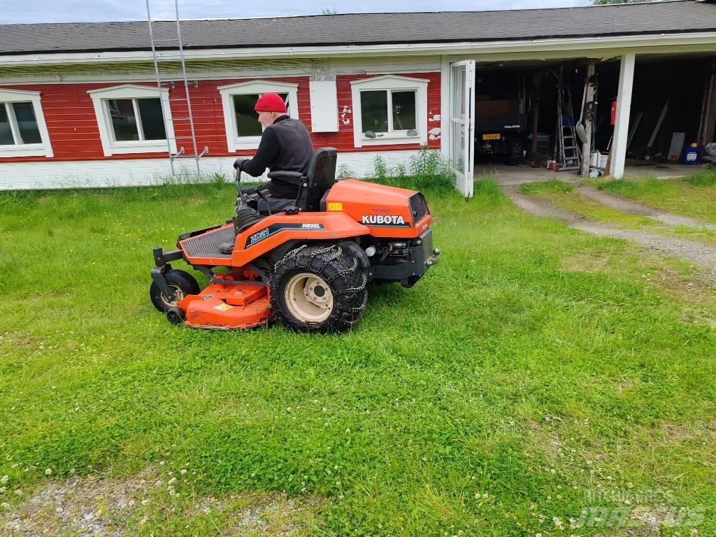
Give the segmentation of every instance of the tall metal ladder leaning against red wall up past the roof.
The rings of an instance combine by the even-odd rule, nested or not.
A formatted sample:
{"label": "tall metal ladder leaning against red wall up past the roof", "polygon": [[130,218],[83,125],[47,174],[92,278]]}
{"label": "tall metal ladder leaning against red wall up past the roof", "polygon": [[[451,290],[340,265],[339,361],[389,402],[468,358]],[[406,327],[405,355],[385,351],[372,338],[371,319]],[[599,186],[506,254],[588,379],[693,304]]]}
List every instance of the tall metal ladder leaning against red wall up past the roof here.
{"label": "tall metal ladder leaning against red wall up past the roof", "polygon": [[[195,160],[196,163],[196,174],[199,176],[201,174],[201,167],[199,164],[199,161],[201,158],[206,155],[209,152],[208,147],[204,147],[203,151],[199,153],[197,142],[196,142],[196,131],[194,128],[194,117],[191,111],[191,99],[189,96],[189,81],[186,76],[186,63],[184,61],[184,44],[181,39],[181,27],[179,23],[179,2],[178,0],[174,0],[174,14],[175,14],[175,25],[176,25],[176,34],[174,37],[174,34],[171,35],[168,39],[155,39],[154,37],[154,23],[155,21],[152,20],[152,12],[150,9],[150,0],[146,0],[147,4],[147,24],[149,24],[149,40],[150,44],[152,46],[152,57],[154,60],[154,72],[157,77],[157,88],[159,89],[160,94],[160,100],[164,101],[162,89],[174,89],[176,87],[177,81],[176,77],[171,77],[172,79],[163,79],[161,72],[160,72],[160,64],[162,63],[172,63],[175,64],[177,60],[175,58],[160,58],[157,55],[157,46],[160,43],[173,43],[176,44],[176,51],[179,53],[179,63],[181,65],[181,73],[182,73],[182,79],[184,84],[184,94],[185,97],[167,97],[167,100],[164,101],[162,104],[166,104],[169,106],[170,102],[185,102],[186,103],[186,111],[187,111],[187,117],[172,117],[172,123],[173,123],[173,131],[174,136],[170,137],[167,136],[167,152],[169,155],[169,165],[172,170],[172,176],[175,177],[177,175],[175,168],[174,168],[174,162],[178,158],[192,158]],[[169,95],[169,94],[167,94]],[[182,121],[188,121],[189,123],[189,135],[183,135],[183,136],[177,136],[176,135],[176,126],[177,122]],[[169,124],[168,118],[164,118],[165,122],[165,132],[169,133],[170,130],[167,128]],[[175,142],[177,147],[177,152],[174,153],[172,150],[171,142]]]}

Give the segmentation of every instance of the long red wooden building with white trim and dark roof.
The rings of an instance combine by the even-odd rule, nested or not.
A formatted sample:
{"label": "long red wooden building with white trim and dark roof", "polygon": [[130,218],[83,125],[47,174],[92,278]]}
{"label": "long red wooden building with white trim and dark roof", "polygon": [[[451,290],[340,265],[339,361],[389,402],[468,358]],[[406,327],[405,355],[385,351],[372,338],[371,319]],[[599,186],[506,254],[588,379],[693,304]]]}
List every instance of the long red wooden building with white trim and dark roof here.
{"label": "long red wooden building with white trim and dark roof", "polygon": [[[200,153],[202,173],[231,174],[258,145],[253,102],[278,92],[314,147],[338,148],[344,173],[369,173],[377,155],[406,164],[427,147],[450,159],[469,196],[481,77],[587,59],[619,78],[619,175],[637,57],[716,53],[716,4],[693,0],[180,25],[190,110],[175,45],[158,46],[158,89],[146,21],[0,26],[0,188],[150,184],[170,175],[177,154],[178,170],[195,171]],[[176,36],[168,21],[153,31]]]}

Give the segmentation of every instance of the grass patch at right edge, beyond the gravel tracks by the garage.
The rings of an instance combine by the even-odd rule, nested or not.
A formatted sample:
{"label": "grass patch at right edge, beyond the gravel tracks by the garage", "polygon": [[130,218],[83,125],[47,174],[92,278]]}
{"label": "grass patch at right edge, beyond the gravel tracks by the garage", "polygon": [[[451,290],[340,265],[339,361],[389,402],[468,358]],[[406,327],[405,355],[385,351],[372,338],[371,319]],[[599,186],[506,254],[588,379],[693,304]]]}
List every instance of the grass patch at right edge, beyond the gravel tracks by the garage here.
{"label": "grass patch at right edge, beyond the gravel tracks by the garage", "polygon": [[716,223],[716,171],[678,180],[653,177],[595,180],[597,188],[672,213]]}

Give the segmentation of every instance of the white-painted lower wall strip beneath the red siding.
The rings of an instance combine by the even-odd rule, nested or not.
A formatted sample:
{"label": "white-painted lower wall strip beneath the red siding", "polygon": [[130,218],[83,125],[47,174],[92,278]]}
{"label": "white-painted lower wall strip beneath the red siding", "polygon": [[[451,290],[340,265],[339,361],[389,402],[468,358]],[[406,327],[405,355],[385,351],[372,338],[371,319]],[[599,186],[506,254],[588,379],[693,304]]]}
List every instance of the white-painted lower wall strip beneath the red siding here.
{"label": "white-painted lower wall strip beneath the red siding", "polygon": [[[410,155],[415,153],[416,151],[340,153],[338,166],[349,169],[354,177],[363,178],[372,173],[377,155],[392,168],[399,164],[408,167]],[[201,172],[207,180],[213,173],[223,173],[228,180],[233,180],[234,160],[234,157],[205,157],[201,159]],[[195,173],[194,160],[175,161],[175,170]],[[167,158],[0,163],[0,190],[157,185],[171,180],[170,176]]]}

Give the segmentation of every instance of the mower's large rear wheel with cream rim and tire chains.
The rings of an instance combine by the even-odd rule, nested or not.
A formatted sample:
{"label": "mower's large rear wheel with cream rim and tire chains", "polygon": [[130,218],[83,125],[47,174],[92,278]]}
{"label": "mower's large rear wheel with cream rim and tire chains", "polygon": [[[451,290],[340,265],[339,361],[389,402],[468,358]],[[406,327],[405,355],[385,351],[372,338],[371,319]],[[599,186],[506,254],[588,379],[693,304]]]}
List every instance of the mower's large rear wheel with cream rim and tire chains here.
{"label": "mower's large rear wheel with cream rim and tire chains", "polygon": [[348,332],[368,300],[367,274],[335,244],[289,251],[271,275],[271,308],[301,332]]}

